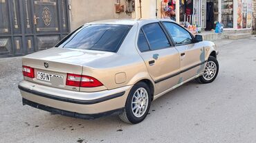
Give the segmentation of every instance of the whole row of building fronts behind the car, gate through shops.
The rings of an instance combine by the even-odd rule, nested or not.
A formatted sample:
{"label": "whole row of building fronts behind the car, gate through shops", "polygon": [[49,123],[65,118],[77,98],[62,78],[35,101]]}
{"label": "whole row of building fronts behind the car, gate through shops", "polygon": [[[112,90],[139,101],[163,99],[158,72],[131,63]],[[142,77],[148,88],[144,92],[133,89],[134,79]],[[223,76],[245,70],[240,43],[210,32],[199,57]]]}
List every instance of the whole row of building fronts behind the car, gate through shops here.
{"label": "whole row of building fronts behind the car, gate through shops", "polygon": [[0,0],[0,58],[53,47],[80,25],[167,18],[212,30],[252,30],[256,0]]}

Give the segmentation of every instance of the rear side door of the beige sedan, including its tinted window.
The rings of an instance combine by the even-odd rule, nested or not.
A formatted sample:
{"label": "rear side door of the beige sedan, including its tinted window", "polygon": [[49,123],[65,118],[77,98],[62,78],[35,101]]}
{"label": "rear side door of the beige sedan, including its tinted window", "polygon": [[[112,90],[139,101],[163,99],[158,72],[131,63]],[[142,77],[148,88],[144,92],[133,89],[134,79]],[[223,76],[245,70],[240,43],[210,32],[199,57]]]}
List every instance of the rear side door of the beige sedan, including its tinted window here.
{"label": "rear side door of the beige sedan, including its tinted window", "polygon": [[138,34],[138,49],[156,83],[156,94],[179,82],[179,52],[170,43],[161,23],[143,25]]}

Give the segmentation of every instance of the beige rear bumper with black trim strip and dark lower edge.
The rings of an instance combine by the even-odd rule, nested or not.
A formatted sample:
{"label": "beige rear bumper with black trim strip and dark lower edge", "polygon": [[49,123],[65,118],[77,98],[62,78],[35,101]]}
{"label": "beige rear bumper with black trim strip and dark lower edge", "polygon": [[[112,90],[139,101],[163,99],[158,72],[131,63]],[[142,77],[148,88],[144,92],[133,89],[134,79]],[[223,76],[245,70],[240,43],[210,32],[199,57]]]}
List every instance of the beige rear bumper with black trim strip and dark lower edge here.
{"label": "beige rear bumper with black trim strip and dark lower edge", "polygon": [[19,89],[24,104],[62,115],[91,119],[125,107],[131,86],[97,92],[80,92],[23,80],[19,83]]}

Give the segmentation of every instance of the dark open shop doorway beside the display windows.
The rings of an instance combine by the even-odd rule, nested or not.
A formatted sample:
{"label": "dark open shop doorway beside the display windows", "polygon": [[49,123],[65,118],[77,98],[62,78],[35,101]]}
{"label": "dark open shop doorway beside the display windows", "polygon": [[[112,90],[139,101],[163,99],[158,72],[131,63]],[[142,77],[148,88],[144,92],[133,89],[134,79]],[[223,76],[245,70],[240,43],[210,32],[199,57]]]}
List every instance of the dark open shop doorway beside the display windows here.
{"label": "dark open shop doorway beside the display windows", "polygon": [[219,0],[206,1],[206,31],[214,30],[219,21]]}

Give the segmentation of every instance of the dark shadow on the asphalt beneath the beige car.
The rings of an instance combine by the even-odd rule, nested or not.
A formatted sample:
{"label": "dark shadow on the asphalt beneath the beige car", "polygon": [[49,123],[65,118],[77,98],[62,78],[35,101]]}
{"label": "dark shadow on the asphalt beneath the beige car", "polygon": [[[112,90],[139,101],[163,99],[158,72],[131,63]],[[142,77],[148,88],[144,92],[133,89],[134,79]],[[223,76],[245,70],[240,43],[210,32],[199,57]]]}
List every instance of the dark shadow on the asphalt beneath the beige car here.
{"label": "dark shadow on the asphalt beneath the beige car", "polygon": [[[189,83],[185,83],[184,85],[182,85],[181,87],[178,87],[170,92],[168,92],[167,94],[165,94],[164,96],[161,96],[160,98],[158,98],[157,100],[154,100],[154,102],[152,102],[152,105],[149,109],[149,115],[147,115],[147,118],[150,118],[150,116],[154,116],[154,113],[156,112],[162,112],[162,108],[164,106],[166,106],[167,104],[172,105],[172,104],[176,104],[176,103],[172,103],[172,98],[176,98],[177,96],[182,96],[183,92],[186,92],[187,90],[184,90],[188,87],[196,87],[198,88],[200,85],[198,83],[196,83],[195,80],[190,81]],[[160,105],[160,106],[159,106]],[[129,126],[130,124],[127,124],[125,122],[122,122],[119,118],[118,115],[108,115],[102,118],[97,118],[94,120],[84,120],[84,119],[80,119],[80,118],[72,118],[72,117],[67,117],[64,115],[58,115],[58,114],[51,114],[48,112],[44,113],[47,118],[48,121],[51,120],[51,122],[53,124],[62,124],[63,126],[63,130],[65,129],[70,129],[71,131],[74,130],[79,130],[79,129],[83,129],[86,128],[87,126],[90,126],[90,128],[96,127],[96,126],[100,126],[101,130],[102,130],[102,126],[105,125],[109,125],[109,124],[116,124],[116,126]],[[152,117],[153,118],[153,117]],[[73,124],[73,126],[71,126],[71,124]],[[76,129],[75,129],[76,128]],[[104,128],[103,128],[104,129]]]}

